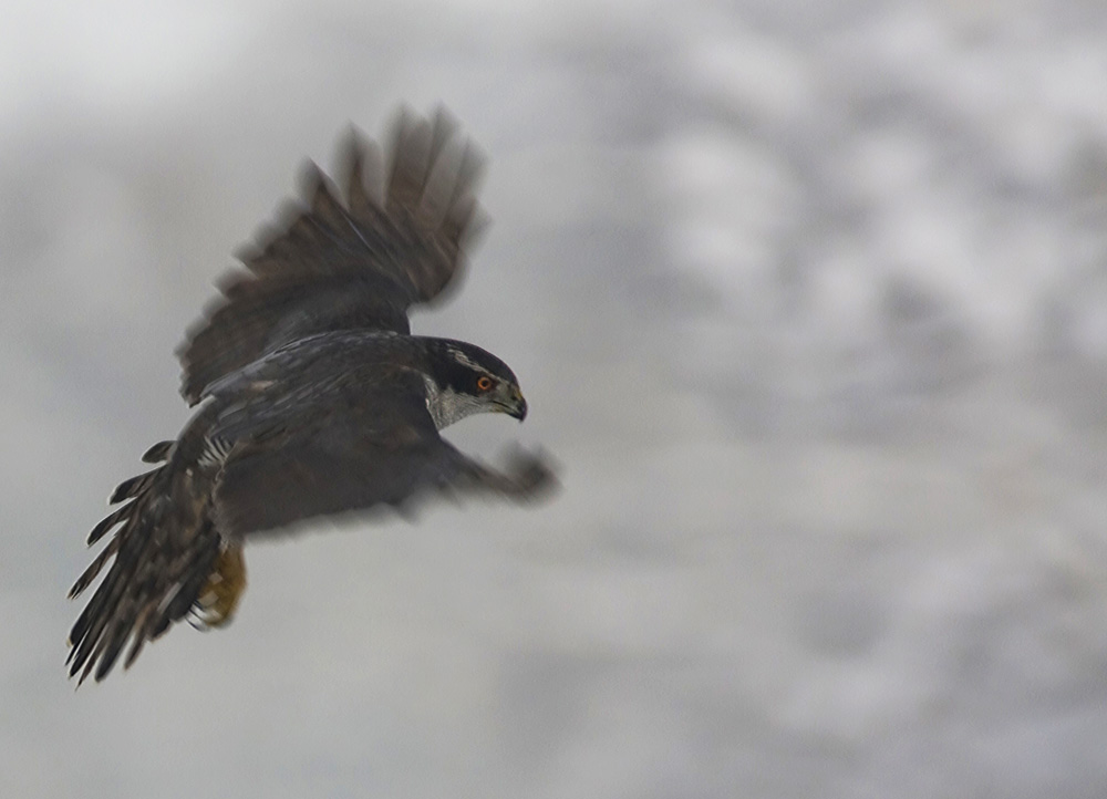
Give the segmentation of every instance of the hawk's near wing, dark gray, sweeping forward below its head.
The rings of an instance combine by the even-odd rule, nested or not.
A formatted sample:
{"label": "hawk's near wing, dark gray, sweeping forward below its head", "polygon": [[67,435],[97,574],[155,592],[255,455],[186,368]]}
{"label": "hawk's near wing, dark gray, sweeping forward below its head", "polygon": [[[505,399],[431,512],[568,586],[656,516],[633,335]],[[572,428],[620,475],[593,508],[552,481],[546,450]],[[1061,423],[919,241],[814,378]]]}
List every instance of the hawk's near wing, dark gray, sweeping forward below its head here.
{"label": "hawk's near wing, dark gray, sweeping forward below its head", "polygon": [[245,536],[376,505],[407,506],[438,490],[527,497],[551,478],[537,458],[494,471],[438,436],[422,378],[397,372],[376,386],[334,384],[297,403],[228,413],[213,435],[234,438],[215,489],[215,518]]}

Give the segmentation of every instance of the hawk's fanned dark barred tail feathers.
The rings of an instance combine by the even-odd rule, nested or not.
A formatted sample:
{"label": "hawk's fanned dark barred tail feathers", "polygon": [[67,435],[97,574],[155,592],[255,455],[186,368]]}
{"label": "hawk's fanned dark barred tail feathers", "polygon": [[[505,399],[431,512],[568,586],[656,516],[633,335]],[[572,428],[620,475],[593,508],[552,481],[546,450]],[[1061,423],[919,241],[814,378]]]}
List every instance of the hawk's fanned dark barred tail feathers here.
{"label": "hawk's fanned dark barred tail feathers", "polygon": [[114,558],[70,632],[66,663],[79,684],[93,671],[103,679],[128,641],[130,666],[146,641],[189,612],[216,568],[221,541],[208,511],[210,487],[176,449],[175,442],[151,447],[143,460],[167,463],[120,484],[111,502],[126,504],[89,535],[91,546],[117,527],[70,590],[77,596]]}

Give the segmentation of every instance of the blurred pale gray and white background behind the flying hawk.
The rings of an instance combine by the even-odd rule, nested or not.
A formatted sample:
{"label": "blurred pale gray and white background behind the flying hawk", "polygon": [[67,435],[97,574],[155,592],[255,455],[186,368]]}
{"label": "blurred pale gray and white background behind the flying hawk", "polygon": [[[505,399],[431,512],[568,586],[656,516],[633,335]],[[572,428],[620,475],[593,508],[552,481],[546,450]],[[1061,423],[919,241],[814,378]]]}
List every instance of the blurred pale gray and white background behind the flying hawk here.
{"label": "blurred pale gray and white background behind the flying hawk", "polygon": [[[40,4],[0,27],[0,796],[1107,793],[1107,9]],[[74,693],[173,347],[348,121],[490,157],[565,490],[248,552]],[[327,526],[321,526],[327,529]]]}

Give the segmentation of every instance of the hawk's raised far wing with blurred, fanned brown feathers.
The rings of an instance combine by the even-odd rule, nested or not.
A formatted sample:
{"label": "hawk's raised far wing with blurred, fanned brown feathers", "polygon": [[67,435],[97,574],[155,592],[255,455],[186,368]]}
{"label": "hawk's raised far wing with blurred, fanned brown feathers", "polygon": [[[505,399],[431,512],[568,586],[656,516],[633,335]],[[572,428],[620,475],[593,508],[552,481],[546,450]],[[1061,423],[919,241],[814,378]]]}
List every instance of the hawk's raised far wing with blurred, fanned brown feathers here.
{"label": "hawk's raised far wing with blurred, fanned brown feathers", "polygon": [[445,111],[432,122],[401,112],[383,179],[380,147],[356,132],[342,160],[344,198],[310,165],[307,205],[240,256],[249,271],[226,276],[221,300],[189,329],[178,349],[189,404],[213,381],[311,333],[407,333],[407,309],[458,272],[479,227],[482,159]]}

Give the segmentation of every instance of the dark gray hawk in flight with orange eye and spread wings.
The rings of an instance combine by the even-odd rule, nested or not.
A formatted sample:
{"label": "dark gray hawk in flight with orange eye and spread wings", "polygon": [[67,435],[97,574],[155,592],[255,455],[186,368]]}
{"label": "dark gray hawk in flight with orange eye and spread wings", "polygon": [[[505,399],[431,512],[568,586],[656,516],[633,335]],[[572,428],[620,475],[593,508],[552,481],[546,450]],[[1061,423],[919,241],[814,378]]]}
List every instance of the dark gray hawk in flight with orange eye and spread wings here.
{"label": "dark gray hawk in flight with orange eye and spread wings", "polygon": [[[245,543],[293,522],[441,491],[517,499],[552,485],[537,454],[505,471],[438,432],[476,413],[520,422],[515,373],[492,353],[412,335],[407,310],[458,282],[480,227],[482,160],[444,111],[403,111],[387,152],[356,132],[340,191],[309,165],[303,203],[262,232],[177,354],[195,416],[158,464],[111,496],[89,535],[115,535],[70,591],[111,563],[70,633],[70,676],[103,679],[130,642],[186,616],[220,626],[246,587]],[[386,157],[385,157],[386,155]]]}

